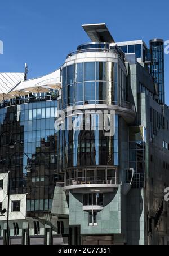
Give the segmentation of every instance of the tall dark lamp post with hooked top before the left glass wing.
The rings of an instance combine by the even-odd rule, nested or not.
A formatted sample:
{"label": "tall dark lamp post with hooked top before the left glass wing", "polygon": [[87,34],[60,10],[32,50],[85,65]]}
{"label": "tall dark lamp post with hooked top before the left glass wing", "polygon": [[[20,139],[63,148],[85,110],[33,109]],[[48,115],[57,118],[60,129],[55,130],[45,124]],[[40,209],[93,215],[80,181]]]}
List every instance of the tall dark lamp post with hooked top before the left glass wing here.
{"label": "tall dark lamp post with hooked top before the left glass wing", "polygon": [[21,153],[23,155],[25,155],[28,158],[28,164],[27,164],[27,173],[30,172],[31,169],[31,165],[30,165],[30,158],[29,156],[25,153],[25,152],[15,152],[11,155],[10,157],[10,165],[9,165],[9,171],[8,171],[8,203],[7,203],[7,233],[6,233],[6,245],[9,245],[9,215],[10,215],[10,180],[11,180],[11,161],[12,158],[17,155],[18,153]]}

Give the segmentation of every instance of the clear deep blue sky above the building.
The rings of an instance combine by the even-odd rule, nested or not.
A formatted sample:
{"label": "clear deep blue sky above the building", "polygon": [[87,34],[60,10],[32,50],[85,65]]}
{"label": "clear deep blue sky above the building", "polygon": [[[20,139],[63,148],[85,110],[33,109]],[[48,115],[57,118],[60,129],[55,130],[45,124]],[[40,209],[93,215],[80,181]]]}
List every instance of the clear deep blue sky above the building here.
{"label": "clear deep blue sky above the building", "polygon": [[[60,67],[66,54],[88,42],[81,25],[106,23],[115,41],[154,37],[169,40],[168,0],[3,0],[0,4],[0,72],[23,72],[29,78]],[[166,102],[169,105],[169,54],[166,62]]]}

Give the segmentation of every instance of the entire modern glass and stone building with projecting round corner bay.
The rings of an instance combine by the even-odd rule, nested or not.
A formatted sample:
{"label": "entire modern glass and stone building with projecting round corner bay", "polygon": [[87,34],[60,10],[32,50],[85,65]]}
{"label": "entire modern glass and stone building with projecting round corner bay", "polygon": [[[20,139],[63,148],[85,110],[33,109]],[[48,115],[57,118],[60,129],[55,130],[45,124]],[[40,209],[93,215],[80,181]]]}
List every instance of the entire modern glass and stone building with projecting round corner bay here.
{"label": "entire modern glass and stone building with projecting round corner bay", "polygon": [[91,42],[60,69],[0,94],[0,244],[5,209],[10,244],[168,244],[157,48],[115,43],[105,24],[83,28]]}

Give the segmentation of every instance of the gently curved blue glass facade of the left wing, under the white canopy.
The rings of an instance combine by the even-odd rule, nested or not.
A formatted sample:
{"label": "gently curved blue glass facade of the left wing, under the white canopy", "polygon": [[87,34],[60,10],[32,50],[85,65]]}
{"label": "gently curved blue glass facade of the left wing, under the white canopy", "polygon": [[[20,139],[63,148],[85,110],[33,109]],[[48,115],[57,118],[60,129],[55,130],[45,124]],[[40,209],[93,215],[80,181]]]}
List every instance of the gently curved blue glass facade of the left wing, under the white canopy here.
{"label": "gently curved blue glass facade of the left wing, under the white canopy", "polygon": [[[1,136],[0,173],[7,173],[10,155],[11,194],[27,195],[27,214],[38,216],[50,211],[57,175],[57,135],[55,134],[55,110],[57,101],[15,105],[0,109],[0,133],[10,131],[15,143],[9,150],[9,135]],[[26,171],[27,153],[31,160],[31,172]],[[62,180],[63,181],[63,180]]]}

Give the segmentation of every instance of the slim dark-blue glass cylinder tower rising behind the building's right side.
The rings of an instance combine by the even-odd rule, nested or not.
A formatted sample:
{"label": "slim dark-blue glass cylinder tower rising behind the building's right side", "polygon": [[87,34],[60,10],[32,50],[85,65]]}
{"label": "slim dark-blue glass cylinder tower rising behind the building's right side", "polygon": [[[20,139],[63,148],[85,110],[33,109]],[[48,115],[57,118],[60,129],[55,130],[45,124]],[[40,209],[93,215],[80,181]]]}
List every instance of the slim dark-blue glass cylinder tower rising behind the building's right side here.
{"label": "slim dark-blue glass cylinder tower rising behind the building's right side", "polygon": [[162,39],[150,40],[150,53],[150,71],[154,82],[158,85],[159,103],[164,104],[164,41]]}

